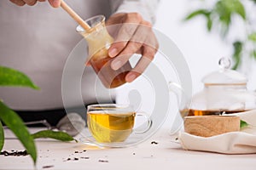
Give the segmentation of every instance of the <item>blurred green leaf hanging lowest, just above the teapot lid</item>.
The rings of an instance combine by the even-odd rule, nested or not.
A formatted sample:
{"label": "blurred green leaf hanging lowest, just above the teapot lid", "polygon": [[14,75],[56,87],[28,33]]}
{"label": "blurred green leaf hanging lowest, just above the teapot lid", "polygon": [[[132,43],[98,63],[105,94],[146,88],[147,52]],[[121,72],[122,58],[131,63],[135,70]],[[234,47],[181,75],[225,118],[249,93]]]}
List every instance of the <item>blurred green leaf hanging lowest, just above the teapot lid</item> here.
{"label": "blurred green leaf hanging lowest, just above the teapot lid", "polygon": [[235,60],[235,65],[233,65],[233,70],[236,70],[241,65],[241,51],[243,48],[243,42],[236,41],[233,43],[233,59]]}

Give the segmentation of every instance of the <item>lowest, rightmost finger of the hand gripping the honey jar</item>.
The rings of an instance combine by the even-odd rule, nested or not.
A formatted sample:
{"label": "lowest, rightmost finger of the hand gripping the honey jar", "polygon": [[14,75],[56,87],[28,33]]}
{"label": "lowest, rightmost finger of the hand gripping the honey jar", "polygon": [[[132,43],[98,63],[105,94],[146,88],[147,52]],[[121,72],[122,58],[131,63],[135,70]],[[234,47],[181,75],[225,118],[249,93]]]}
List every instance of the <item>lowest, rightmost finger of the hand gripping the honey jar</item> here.
{"label": "lowest, rightmost finger of the hand gripping the honey jar", "polygon": [[137,62],[137,65],[126,75],[125,81],[126,82],[132,82],[137,77],[139,77],[143,71],[146,70],[148,65],[151,63],[151,61],[154,59],[154,54],[156,53],[156,49],[149,47],[149,46],[143,46],[143,57],[139,59]]}

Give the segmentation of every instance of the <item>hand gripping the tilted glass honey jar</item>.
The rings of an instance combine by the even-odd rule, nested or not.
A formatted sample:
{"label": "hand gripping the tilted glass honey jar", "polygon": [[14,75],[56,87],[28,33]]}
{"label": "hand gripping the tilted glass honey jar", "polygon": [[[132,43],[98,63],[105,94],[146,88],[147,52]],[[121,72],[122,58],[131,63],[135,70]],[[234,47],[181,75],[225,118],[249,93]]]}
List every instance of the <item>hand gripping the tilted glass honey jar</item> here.
{"label": "hand gripping the tilted glass honey jar", "polygon": [[159,48],[152,25],[137,13],[113,14],[106,25],[110,27],[108,31],[114,37],[114,42],[108,49],[108,55],[115,58],[111,63],[113,70],[125,65],[132,54],[142,54],[137,65],[125,77],[126,82],[132,82],[146,70]]}

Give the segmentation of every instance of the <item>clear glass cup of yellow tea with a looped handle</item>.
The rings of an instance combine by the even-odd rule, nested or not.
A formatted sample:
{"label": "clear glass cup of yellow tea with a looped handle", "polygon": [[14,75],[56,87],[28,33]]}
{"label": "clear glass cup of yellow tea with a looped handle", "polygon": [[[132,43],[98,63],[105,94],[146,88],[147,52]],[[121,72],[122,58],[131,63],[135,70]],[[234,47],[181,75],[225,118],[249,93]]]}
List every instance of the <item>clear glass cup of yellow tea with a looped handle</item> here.
{"label": "clear glass cup of yellow tea with a looped handle", "polygon": [[[137,116],[143,116],[147,121],[147,127],[140,132],[134,129]],[[87,124],[96,142],[120,143],[131,133],[146,133],[152,121],[145,113],[133,111],[129,105],[105,104],[87,107]]]}

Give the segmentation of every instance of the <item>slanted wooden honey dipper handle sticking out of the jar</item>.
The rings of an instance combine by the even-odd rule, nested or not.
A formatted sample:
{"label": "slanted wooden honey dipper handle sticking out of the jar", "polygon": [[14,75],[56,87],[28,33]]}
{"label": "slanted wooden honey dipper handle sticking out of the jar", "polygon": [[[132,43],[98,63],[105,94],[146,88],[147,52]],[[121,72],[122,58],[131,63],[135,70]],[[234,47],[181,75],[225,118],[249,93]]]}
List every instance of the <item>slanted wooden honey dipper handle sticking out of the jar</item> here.
{"label": "slanted wooden honey dipper handle sticking out of the jar", "polygon": [[61,8],[66,10],[67,14],[69,14],[73,20],[76,20],[80,26],[84,28],[85,31],[90,31],[90,26],[84,22],[84,20],[79,16],[79,14],[76,14],[72,8],[70,8],[67,3],[65,3],[63,0],[61,1]]}

